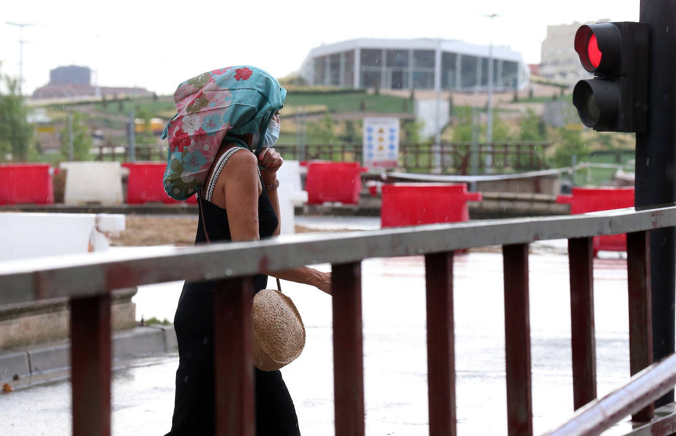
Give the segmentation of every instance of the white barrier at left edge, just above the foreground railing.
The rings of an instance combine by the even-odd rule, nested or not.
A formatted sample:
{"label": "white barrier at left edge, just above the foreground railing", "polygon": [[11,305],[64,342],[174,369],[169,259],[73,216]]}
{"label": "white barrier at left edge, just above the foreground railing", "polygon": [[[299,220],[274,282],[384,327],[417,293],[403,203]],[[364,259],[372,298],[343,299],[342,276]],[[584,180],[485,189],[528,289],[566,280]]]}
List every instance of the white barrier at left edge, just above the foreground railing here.
{"label": "white barrier at left edge, just above the foreground railing", "polygon": [[107,251],[105,233],[124,230],[121,214],[0,214],[0,261]]}

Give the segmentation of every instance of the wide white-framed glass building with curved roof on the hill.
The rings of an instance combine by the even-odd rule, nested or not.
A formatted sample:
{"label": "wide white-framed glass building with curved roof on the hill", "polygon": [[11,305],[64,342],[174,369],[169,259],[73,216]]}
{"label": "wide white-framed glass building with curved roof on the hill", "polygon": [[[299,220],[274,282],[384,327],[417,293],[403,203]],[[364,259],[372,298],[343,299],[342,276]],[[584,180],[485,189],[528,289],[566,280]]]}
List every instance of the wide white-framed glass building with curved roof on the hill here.
{"label": "wide white-framed glass building with curved roof on the hill", "polygon": [[[310,84],[381,89],[488,89],[490,49],[439,39],[354,39],[310,50],[301,76]],[[521,53],[493,47],[493,90],[523,89]]]}

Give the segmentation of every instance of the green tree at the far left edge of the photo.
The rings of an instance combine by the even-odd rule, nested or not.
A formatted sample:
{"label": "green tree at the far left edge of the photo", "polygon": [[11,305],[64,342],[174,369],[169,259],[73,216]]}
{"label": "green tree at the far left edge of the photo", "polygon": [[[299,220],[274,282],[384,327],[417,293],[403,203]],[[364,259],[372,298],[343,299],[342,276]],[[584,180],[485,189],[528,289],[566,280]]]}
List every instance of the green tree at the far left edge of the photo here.
{"label": "green tree at the far left edge of the photo", "polygon": [[28,107],[19,94],[18,80],[5,75],[2,80],[5,89],[0,89],[0,160],[11,155],[11,160],[25,162],[31,154],[33,133],[26,119]]}

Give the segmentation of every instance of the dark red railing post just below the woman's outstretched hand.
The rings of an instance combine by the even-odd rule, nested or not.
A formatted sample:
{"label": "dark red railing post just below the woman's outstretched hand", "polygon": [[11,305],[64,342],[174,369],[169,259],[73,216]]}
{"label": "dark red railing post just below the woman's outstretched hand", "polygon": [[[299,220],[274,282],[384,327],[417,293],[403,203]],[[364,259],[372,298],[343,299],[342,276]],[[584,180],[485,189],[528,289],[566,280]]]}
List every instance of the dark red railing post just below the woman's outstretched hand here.
{"label": "dark red railing post just below the woman's outstretched hand", "polygon": [[331,270],[335,434],[364,436],[361,264],[333,264]]}

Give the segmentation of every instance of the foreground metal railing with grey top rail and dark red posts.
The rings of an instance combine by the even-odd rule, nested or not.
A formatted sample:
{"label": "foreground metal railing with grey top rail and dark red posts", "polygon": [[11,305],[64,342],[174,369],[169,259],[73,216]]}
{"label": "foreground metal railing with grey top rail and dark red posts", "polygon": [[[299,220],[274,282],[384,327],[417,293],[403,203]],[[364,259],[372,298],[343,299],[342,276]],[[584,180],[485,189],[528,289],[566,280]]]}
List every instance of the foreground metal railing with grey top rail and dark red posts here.
{"label": "foreground metal railing with grey top rail and dark red posts", "polygon": [[[168,248],[158,255],[91,254],[0,264],[0,304],[69,297],[73,434],[110,435],[110,291],[167,281],[214,281],[216,433],[255,434],[251,352],[251,277],[329,262],[333,286],[335,434],[364,435],[361,261],[425,256],[430,435],[456,434],[453,320],[454,250],[502,245],[508,434],[533,434],[529,327],[529,243],[569,239],[575,408],[596,399],[593,249],[597,235],[627,233],[631,374],[652,364],[648,231],[676,226],[676,206],[594,214],[431,224],[414,228]],[[666,369],[665,369],[666,368]],[[659,370],[658,370],[659,369]],[[621,413],[651,421],[652,400],[673,384],[674,359],[653,374],[642,402],[622,396]],[[633,383],[633,382],[632,382]],[[660,390],[661,389],[661,390]],[[603,400],[601,400],[603,401]],[[642,410],[635,410],[643,407]],[[633,407],[632,407],[633,405]],[[594,408],[595,406],[590,406]],[[600,406],[602,407],[602,406]],[[619,420],[620,414],[612,415]],[[614,423],[603,413],[594,431]],[[655,421],[652,421],[655,422]],[[576,430],[577,429],[577,430]],[[652,434],[669,435],[654,426]],[[556,435],[595,435],[562,430]]]}

